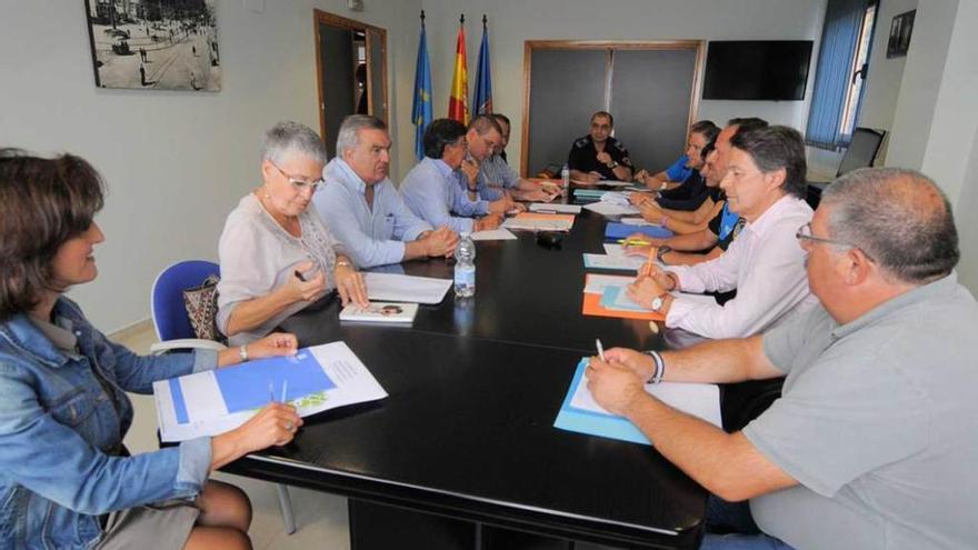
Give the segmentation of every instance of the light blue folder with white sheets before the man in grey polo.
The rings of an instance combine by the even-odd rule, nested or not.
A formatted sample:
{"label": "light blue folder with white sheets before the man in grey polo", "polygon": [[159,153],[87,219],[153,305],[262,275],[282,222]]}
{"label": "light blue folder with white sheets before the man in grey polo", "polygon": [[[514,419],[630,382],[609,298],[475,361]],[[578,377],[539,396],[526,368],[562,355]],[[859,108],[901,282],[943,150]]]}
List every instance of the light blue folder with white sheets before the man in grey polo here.
{"label": "light blue folder with white sheets before the man in grey polo", "polygon": [[[588,360],[581,359],[553,427],[632,443],[651,444],[649,438],[628,419],[611,414],[595,401],[585,382],[587,367]],[[663,403],[722,428],[720,389],[716,384],[661,382],[646,384],[645,389]]]}

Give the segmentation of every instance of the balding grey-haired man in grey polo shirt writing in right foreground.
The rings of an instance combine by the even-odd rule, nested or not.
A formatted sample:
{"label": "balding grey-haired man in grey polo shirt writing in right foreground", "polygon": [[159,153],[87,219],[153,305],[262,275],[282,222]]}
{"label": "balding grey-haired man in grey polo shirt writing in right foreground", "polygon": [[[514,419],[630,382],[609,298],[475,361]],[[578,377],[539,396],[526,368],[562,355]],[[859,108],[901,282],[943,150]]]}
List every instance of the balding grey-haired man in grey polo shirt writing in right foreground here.
{"label": "balding grey-haired man in grey polo shirt writing in right foreground", "polygon": [[[719,497],[707,528],[734,533],[702,548],[978,548],[978,304],[947,199],[918,172],[861,169],[796,237],[820,307],[749,339],[606,351],[588,388]],[[643,388],[778,377],[781,398],[735,433]]]}

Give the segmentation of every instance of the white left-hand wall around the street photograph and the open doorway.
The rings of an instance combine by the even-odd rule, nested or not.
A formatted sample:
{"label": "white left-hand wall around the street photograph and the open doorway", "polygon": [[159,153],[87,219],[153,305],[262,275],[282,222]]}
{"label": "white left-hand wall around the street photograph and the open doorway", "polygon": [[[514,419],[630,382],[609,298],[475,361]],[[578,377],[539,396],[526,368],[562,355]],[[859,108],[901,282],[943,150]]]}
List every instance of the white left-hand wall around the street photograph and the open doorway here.
{"label": "white left-hand wall around the street photograph and the open doorway", "polygon": [[[96,88],[82,2],[3,2],[0,143],[80,154],[108,182],[100,276],[71,291],[104,330],[149,314],[166,264],[217,258],[226,214],[260,182],[262,130],[283,119],[319,129],[315,7],[387,28],[389,81],[413,74],[403,46],[417,46],[416,28],[400,10],[417,13],[420,1],[368,0],[352,16],[343,0],[249,2],[262,13],[244,3],[218,3],[222,90],[194,93]],[[395,133],[402,100],[391,94]]]}

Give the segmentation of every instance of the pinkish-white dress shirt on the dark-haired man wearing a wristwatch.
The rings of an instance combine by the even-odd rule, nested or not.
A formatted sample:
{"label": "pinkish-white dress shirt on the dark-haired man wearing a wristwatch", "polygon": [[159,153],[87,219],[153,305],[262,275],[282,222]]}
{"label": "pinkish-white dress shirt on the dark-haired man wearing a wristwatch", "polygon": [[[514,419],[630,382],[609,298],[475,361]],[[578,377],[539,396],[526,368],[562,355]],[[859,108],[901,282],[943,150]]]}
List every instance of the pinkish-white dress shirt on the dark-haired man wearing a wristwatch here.
{"label": "pinkish-white dress shirt on the dark-haired man wearing a wristwatch", "polygon": [[666,326],[707,338],[744,338],[818,303],[808,290],[807,253],[795,238],[811,214],[804,200],[785,196],[747,223],[719,258],[669,268],[683,292],[737,289],[737,298],[720,306],[676,293]]}

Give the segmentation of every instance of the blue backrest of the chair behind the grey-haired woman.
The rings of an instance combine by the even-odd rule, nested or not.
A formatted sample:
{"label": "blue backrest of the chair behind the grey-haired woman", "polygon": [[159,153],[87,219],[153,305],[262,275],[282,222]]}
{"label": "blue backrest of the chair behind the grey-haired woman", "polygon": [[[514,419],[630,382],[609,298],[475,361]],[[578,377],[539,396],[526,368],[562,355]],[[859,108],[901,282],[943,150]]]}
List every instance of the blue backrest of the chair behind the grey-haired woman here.
{"label": "blue backrest of the chair behind the grey-haired woman", "polygon": [[199,287],[209,276],[220,276],[220,267],[206,260],[186,260],[162,270],[153,281],[150,310],[160,340],[196,338],[187,317],[183,291]]}

